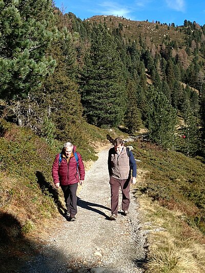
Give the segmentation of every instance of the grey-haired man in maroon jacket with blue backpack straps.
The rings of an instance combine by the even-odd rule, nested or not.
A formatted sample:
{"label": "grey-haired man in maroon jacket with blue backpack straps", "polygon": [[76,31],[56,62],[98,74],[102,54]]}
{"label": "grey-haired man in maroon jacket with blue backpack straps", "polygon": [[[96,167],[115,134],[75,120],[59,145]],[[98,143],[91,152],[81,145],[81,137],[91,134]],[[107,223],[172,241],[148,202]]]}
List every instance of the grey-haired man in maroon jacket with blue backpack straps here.
{"label": "grey-haired man in maroon jacket with blue backpack straps", "polygon": [[57,188],[63,190],[67,211],[65,216],[69,221],[75,221],[77,213],[77,186],[83,184],[85,167],[79,153],[75,152],[76,146],[66,142],[61,153],[55,156],[52,166],[53,182]]}

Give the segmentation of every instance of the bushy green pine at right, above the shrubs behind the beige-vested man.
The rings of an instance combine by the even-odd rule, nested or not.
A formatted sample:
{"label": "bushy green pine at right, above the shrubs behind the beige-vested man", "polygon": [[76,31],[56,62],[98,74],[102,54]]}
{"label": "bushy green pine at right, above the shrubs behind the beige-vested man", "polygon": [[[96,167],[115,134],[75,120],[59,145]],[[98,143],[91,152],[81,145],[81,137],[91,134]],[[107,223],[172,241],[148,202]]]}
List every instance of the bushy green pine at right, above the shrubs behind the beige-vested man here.
{"label": "bushy green pine at right, above the shrubs behind the beige-vested man", "polygon": [[149,137],[155,143],[167,149],[174,149],[176,110],[162,92],[150,87],[147,125]]}

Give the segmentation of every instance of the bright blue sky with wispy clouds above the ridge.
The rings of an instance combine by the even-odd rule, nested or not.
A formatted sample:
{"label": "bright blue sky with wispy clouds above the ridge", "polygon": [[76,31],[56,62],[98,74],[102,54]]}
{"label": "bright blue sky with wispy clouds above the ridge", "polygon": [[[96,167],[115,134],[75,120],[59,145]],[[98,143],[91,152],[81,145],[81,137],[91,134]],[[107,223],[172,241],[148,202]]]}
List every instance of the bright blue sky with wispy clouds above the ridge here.
{"label": "bright blue sky with wispy clouds above the ridge", "polygon": [[185,19],[201,26],[205,24],[204,0],[54,0],[54,3],[82,20],[94,15],[115,15],[131,20],[175,23],[175,26],[183,25]]}

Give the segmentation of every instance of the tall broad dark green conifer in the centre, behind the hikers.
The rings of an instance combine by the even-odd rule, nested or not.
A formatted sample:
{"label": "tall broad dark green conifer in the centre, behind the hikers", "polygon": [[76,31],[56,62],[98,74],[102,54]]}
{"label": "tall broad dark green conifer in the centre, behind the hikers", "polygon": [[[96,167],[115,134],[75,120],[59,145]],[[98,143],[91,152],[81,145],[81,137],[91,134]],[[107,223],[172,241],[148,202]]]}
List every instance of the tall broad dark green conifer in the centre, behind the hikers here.
{"label": "tall broad dark green conifer in the centre, behind the hikers", "polygon": [[90,54],[81,72],[80,94],[89,123],[117,126],[125,113],[124,66],[107,29],[93,28]]}

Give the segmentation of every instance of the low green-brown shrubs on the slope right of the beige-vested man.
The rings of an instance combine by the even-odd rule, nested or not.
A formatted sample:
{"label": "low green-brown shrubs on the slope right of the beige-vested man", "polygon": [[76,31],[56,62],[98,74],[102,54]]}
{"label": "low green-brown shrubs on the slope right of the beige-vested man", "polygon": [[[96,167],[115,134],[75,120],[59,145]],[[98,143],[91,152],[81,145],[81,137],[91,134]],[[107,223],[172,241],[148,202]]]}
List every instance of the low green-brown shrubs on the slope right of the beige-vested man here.
{"label": "low green-brown shrubs on the slope right of the beige-vested man", "polygon": [[186,214],[187,222],[204,233],[204,164],[194,158],[160,149],[145,142],[132,142],[138,167],[148,171],[138,190],[160,204]]}

